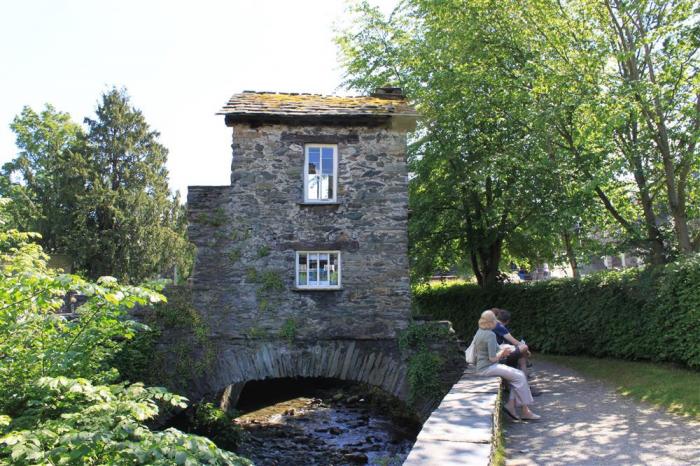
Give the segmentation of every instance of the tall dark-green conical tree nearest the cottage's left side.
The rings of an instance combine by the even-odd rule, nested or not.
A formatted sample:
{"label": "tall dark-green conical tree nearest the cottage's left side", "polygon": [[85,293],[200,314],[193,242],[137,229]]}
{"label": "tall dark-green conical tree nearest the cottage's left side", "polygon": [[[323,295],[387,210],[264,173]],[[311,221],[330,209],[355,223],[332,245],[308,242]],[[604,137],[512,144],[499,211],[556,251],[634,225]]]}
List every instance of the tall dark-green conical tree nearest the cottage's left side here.
{"label": "tall dark-green conical tree nearest the cottage's left side", "polygon": [[86,118],[91,178],[77,236],[87,240],[81,261],[89,276],[111,273],[132,282],[172,267],[188,270],[184,212],[170,197],[167,149],[158,142],[124,90],[102,96]]}

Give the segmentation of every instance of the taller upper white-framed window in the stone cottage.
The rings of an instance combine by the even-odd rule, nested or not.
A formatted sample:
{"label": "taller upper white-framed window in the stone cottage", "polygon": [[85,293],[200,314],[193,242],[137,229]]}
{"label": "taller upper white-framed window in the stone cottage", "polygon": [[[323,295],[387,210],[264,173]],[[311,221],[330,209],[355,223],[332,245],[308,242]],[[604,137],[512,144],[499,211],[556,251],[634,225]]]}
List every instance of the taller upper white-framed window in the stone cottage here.
{"label": "taller upper white-framed window in the stone cottage", "polygon": [[338,146],[307,144],[305,152],[304,202],[335,202]]}

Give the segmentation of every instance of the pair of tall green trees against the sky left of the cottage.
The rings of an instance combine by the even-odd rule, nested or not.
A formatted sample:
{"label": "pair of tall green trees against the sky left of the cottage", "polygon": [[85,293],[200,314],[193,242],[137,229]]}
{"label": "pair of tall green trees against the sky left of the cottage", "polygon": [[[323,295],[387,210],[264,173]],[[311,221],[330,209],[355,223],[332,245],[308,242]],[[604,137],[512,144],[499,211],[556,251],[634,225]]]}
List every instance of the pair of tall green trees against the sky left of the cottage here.
{"label": "pair of tall green trees against the sky left of the cottage", "polygon": [[188,276],[194,250],[158,132],[123,90],[103,94],[96,113],[87,130],[51,106],[15,118],[20,151],[0,172],[13,224],[92,279],[139,283],[175,268]]}

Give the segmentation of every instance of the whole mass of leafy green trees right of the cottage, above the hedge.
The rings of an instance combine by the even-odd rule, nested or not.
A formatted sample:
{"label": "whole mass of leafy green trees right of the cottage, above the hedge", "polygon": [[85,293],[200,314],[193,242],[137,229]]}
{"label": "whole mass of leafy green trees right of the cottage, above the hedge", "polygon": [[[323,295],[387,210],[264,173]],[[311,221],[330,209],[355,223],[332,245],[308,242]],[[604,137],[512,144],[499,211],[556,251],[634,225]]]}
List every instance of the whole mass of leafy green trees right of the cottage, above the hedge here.
{"label": "whole mass of leafy green trees right of the cottage, above the hedge", "polygon": [[611,242],[663,263],[674,227],[677,249],[699,250],[693,5],[406,0],[383,15],[357,2],[337,38],[345,84],[399,85],[423,116],[414,278],[471,268],[489,285],[501,264],[575,269]]}

